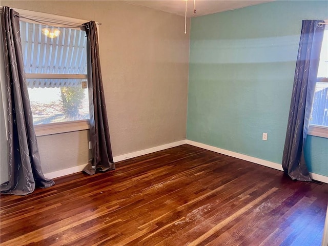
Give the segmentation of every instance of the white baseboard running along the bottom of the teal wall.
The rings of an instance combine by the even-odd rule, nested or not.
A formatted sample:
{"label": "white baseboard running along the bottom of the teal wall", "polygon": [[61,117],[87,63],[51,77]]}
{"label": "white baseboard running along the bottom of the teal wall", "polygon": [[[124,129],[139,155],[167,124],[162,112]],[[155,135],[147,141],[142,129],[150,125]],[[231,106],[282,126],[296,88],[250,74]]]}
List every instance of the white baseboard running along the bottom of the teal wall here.
{"label": "white baseboard running along the bottom of the teal wall", "polygon": [[[244,154],[240,154],[240,153],[236,153],[233,151],[229,151],[229,150],[224,150],[224,149],[220,149],[214,146],[210,146],[210,145],[205,145],[205,144],[201,144],[200,142],[195,142],[192,140],[187,140],[187,144],[188,145],[192,145],[192,146],[196,146],[202,149],[206,149],[206,150],[210,150],[216,153],[220,153],[223,155],[229,155],[241,160],[247,160],[253,163],[256,163],[258,165],[262,165],[265,167],[269,167],[269,168],[273,168],[273,169],[277,169],[279,171],[283,171],[281,164],[279,163],[275,163],[272,161],[268,161],[268,160],[263,160],[263,159],[259,159],[253,156],[249,156],[249,155],[244,155]],[[328,177],[327,176],[323,176],[320,174],[316,174],[316,173],[310,173],[310,176],[312,179],[324,182],[324,183],[328,183]]]}

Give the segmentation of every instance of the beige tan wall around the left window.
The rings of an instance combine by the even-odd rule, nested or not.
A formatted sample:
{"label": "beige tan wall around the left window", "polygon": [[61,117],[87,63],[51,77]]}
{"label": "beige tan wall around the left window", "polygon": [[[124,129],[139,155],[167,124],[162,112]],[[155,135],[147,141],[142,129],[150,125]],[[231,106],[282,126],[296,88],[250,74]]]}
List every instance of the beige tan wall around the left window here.
{"label": "beige tan wall around the left window", "polygon": [[[102,24],[100,58],[114,156],[186,139],[189,34],[183,17],[117,1],[1,5]],[[44,173],[87,163],[88,131],[38,139]]]}

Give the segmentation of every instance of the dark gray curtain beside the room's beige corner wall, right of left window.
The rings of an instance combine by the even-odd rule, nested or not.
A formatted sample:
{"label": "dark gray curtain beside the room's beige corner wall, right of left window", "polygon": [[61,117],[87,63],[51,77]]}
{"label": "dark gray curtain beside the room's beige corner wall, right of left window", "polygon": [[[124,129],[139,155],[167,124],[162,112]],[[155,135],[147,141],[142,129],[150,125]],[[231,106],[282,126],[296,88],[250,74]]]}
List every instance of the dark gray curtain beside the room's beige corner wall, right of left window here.
{"label": "dark gray curtain beside the room's beige corner wall, right of left window", "polygon": [[83,169],[88,174],[95,174],[96,170],[105,172],[115,169],[103,79],[101,78],[98,33],[95,22],[84,24],[87,33],[87,60],[88,60],[88,89],[90,108],[90,138],[93,159]]}

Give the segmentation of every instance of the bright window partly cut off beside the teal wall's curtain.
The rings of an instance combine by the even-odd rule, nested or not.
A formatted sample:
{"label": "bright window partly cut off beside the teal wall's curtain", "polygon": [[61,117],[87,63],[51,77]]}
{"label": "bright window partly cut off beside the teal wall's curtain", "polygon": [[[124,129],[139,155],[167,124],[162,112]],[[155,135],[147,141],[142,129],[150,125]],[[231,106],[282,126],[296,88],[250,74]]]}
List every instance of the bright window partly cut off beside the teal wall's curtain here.
{"label": "bright window partly cut off beside the teal wall's curtain", "polygon": [[328,28],[325,28],[320,53],[317,84],[310,117],[309,134],[328,137]]}

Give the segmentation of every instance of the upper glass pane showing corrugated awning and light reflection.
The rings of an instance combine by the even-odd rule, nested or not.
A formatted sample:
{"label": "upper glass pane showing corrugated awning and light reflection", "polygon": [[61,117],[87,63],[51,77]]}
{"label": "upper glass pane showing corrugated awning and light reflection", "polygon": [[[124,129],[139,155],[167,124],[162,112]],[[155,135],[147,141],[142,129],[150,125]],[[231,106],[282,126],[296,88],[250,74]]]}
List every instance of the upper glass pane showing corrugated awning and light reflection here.
{"label": "upper glass pane showing corrugated awning and light reflection", "polygon": [[87,74],[84,30],[20,21],[20,36],[26,73]]}

